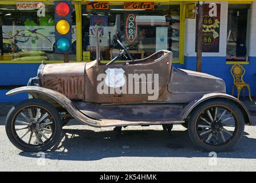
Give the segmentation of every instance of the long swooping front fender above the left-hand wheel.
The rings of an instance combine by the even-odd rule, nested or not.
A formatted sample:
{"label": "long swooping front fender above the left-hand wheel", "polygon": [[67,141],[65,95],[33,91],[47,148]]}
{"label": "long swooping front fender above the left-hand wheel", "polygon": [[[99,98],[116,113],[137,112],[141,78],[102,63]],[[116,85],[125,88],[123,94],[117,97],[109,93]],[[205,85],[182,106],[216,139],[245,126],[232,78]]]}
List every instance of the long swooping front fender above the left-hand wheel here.
{"label": "long swooping front fender above the left-hand wheel", "polygon": [[10,90],[9,92],[6,93],[6,95],[12,96],[14,94],[23,93],[23,92],[27,92],[30,94],[37,93],[37,94],[48,96],[52,98],[54,101],[58,102],[58,104],[60,104],[62,108],[65,108],[69,112],[69,114],[71,114],[78,121],[81,121],[84,124],[90,125],[93,127],[101,127],[100,120],[93,120],[92,118],[85,116],[76,108],[76,106],[74,106],[73,102],[68,97],[54,90],[47,89],[45,87],[40,87],[40,86],[22,86],[22,87],[17,87],[13,90]]}

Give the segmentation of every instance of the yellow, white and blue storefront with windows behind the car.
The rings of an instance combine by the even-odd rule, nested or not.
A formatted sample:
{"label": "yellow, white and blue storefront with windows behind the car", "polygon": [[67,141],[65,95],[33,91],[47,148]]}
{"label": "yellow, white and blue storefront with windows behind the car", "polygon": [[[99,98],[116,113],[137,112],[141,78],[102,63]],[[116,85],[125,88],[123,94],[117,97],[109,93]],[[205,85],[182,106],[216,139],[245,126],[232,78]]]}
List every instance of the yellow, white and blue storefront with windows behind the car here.
{"label": "yellow, white and blue storefront with windows behind the car", "polygon": [[[157,50],[172,50],[175,67],[196,69],[196,18],[186,14],[194,1],[72,1],[72,53],[70,62],[95,59],[95,26],[100,27],[101,61],[108,62],[120,47],[138,42],[131,53],[139,59]],[[256,96],[256,2],[206,1],[204,13],[214,11],[214,18],[204,18],[202,72],[225,79],[231,93],[234,63],[245,67],[245,81]],[[210,4],[215,3],[215,5]],[[43,9],[41,7],[44,7]],[[187,17],[187,18],[186,18]],[[46,63],[64,62],[55,53],[54,1],[0,2],[0,86],[26,85],[37,68]],[[125,58],[123,58],[125,59]],[[256,73],[256,72],[255,72]],[[25,96],[24,96],[25,97]],[[11,101],[17,101],[13,98]],[[3,98],[1,101],[9,101]]]}

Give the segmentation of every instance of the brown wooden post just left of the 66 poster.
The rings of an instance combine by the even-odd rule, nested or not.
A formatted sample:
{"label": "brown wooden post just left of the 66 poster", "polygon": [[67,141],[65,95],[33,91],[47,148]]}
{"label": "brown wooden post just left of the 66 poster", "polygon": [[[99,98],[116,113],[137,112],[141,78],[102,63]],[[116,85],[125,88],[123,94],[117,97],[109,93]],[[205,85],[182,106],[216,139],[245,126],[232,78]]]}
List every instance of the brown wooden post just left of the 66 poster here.
{"label": "brown wooden post just left of the 66 poster", "polygon": [[196,71],[202,71],[202,49],[203,49],[203,1],[198,2],[198,32],[197,32],[197,51],[196,51]]}

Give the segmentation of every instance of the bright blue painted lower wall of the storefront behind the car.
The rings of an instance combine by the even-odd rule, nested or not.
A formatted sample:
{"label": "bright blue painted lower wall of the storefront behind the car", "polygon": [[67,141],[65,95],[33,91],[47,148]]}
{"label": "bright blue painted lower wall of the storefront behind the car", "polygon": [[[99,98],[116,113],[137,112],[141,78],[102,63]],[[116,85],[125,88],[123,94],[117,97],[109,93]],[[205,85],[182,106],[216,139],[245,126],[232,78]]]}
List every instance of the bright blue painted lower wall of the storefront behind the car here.
{"label": "bright blue painted lower wall of the storefront behind the car", "polygon": [[[250,57],[249,62],[249,65],[242,65],[246,69],[243,79],[250,84],[252,96],[256,96],[256,77],[253,75],[256,73],[256,57]],[[29,78],[37,75],[39,65],[40,63],[0,63],[0,86],[26,85]],[[173,63],[173,65],[176,68],[196,70],[196,57],[185,56],[184,65],[180,63]],[[226,90],[229,94],[231,94],[233,86],[233,77],[230,73],[231,67],[232,65],[226,64],[225,57],[202,58],[202,72],[224,79]],[[0,90],[0,102],[17,102],[27,98],[26,93],[6,97],[5,93],[7,91]],[[247,90],[246,96],[248,96]]]}

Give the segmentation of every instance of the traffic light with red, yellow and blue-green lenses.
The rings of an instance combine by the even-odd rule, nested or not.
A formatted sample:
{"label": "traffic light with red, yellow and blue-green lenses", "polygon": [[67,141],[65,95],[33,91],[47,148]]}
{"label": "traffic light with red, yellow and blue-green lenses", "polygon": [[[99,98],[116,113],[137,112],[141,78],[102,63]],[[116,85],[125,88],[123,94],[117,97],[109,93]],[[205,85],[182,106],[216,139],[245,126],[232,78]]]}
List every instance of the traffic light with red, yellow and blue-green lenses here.
{"label": "traffic light with red, yellow and blue-green lenses", "polygon": [[55,53],[70,53],[72,47],[71,1],[55,2]]}

